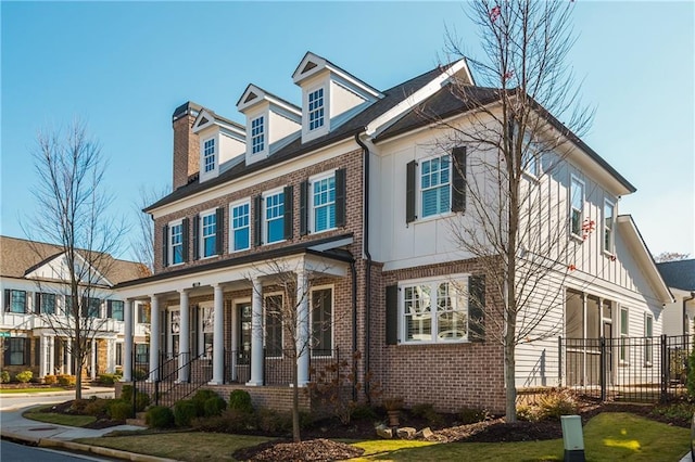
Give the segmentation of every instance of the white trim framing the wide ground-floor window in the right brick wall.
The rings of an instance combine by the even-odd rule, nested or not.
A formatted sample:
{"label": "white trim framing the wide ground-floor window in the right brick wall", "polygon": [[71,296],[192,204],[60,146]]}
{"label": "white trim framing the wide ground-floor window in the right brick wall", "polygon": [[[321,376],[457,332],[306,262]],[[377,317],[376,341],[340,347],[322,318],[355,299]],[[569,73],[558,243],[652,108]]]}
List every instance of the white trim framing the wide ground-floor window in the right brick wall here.
{"label": "white trim framing the wide ground-floor window in the right brick wall", "polygon": [[[432,277],[432,278],[421,278],[421,279],[410,279],[407,281],[400,281],[399,282],[399,344],[401,345],[452,345],[452,344],[464,344],[464,343],[470,343],[471,341],[468,338],[468,334],[470,333],[470,326],[467,324],[466,326],[466,336],[464,338],[460,339],[439,339],[439,319],[437,318],[437,313],[439,311],[437,310],[431,310],[432,313],[432,337],[434,339],[431,341],[407,341],[407,332],[406,332],[406,323],[405,323],[405,287],[409,287],[409,286],[414,286],[414,285],[432,285],[434,288],[438,288],[437,286],[439,284],[442,283],[448,283],[450,284],[450,291],[453,288],[455,291],[455,296],[453,296],[452,298],[460,298],[464,300],[464,304],[466,305],[466,322],[468,323],[469,321],[469,300],[468,297],[470,296],[466,290],[460,291],[459,288],[460,286],[467,286],[468,285],[468,279],[470,278],[471,274],[469,273],[458,273],[458,274],[447,274],[444,277]],[[462,293],[463,292],[463,293]],[[437,305],[437,290],[433,292],[430,292],[430,297],[433,297],[433,301],[431,300],[430,303],[433,303],[433,305],[431,306],[431,308],[434,308],[434,305]],[[431,309],[430,308],[430,309]]]}

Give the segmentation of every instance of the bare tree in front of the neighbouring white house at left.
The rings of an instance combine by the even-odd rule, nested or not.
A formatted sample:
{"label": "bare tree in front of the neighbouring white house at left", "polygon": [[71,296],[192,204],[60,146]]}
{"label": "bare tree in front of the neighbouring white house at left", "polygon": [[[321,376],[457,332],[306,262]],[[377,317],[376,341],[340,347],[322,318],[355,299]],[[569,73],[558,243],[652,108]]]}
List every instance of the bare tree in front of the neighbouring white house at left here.
{"label": "bare tree in front of the neighbouring white house at left", "polygon": [[[39,180],[34,191],[38,211],[24,229],[27,235],[59,249],[46,261],[50,271],[36,279],[39,292],[53,295],[41,316],[56,336],[68,339],[79,399],[85,361],[106,322],[100,309],[111,285],[111,255],[118,252],[125,228],[106,215],[112,202],[102,190],[106,163],[83,123],[74,121],[64,131],[39,132],[33,154]],[[41,255],[38,246],[36,252]]]}

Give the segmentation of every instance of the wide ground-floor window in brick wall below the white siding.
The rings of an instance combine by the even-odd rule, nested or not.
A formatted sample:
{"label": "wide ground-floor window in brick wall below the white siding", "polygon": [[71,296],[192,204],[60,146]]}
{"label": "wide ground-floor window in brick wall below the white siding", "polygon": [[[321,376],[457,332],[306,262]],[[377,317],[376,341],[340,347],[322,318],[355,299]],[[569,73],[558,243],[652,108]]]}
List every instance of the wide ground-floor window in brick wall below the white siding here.
{"label": "wide ground-floor window in brick wall below the white siding", "polygon": [[401,287],[406,343],[468,338],[468,303],[453,282],[425,281]]}

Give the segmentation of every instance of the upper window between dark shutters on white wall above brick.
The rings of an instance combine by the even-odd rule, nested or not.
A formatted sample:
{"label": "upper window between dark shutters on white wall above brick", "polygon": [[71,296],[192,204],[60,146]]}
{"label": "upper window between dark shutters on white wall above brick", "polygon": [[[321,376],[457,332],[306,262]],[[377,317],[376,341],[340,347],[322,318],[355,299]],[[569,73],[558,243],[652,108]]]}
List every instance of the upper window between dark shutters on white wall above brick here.
{"label": "upper window between dark shutters on white wall above brick", "polygon": [[451,162],[448,155],[422,161],[420,193],[422,218],[451,210]]}

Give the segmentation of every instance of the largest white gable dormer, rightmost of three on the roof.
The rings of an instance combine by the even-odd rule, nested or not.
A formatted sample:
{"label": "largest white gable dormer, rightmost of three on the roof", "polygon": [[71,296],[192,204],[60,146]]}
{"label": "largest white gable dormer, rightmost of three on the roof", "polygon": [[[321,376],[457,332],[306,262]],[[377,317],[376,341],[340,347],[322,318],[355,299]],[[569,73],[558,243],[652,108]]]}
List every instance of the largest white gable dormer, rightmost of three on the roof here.
{"label": "largest white gable dormer, rightmost of three on the roof", "polygon": [[382,97],[378,90],[312,52],[304,55],[292,80],[302,88],[302,143],[330,132],[358,107]]}

